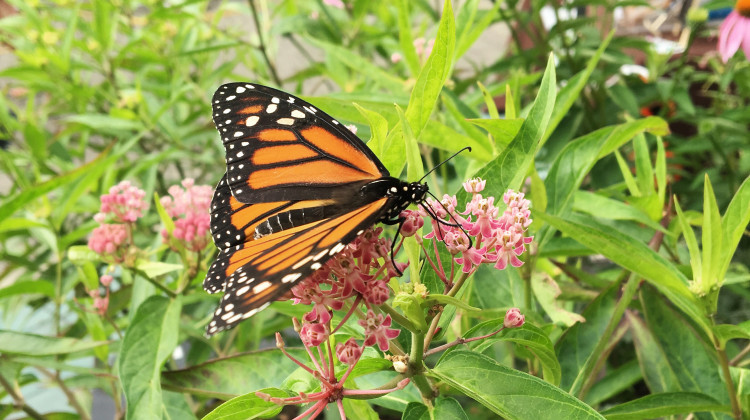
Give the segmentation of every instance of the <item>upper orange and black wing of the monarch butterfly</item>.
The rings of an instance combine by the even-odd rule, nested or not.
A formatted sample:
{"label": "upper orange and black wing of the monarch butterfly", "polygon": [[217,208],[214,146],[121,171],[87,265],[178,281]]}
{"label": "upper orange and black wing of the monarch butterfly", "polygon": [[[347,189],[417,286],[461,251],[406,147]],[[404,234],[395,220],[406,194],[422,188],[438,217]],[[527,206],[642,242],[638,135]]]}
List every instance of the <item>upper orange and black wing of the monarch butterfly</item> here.
{"label": "upper orange and black wing of the monarch butterfly", "polygon": [[288,93],[229,83],[216,91],[212,106],[227,182],[240,202],[333,199],[341,186],[389,175],[356,135]]}

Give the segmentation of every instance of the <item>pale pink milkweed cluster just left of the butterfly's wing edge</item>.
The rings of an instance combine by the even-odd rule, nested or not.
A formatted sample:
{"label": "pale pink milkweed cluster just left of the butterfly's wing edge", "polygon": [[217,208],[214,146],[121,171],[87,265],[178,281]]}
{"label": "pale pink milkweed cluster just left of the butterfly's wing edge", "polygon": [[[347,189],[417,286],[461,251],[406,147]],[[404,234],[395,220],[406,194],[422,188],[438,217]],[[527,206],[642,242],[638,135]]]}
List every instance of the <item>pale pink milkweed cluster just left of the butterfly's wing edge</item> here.
{"label": "pale pink milkweed cluster just left of the butterfly's wing edge", "polygon": [[[209,208],[213,188],[209,185],[195,185],[193,179],[187,178],[182,181],[182,187],[173,185],[168,192],[169,196],[162,197],[160,202],[167,214],[176,218],[171,237],[190,251],[202,251],[211,241]],[[161,234],[164,243],[175,245],[171,243],[166,229]]]}

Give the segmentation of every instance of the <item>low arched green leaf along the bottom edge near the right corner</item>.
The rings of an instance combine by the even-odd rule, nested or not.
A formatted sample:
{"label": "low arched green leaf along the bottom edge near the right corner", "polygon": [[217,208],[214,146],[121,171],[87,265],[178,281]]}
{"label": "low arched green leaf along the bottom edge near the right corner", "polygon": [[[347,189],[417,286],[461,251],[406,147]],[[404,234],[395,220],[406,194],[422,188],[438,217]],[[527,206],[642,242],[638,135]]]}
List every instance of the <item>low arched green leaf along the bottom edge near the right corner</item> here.
{"label": "low arched green leaf along the bottom edge near the right corner", "polygon": [[641,420],[688,414],[697,411],[723,411],[731,413],[727,405],[722,405],[706,394],[697,392],[665,392],[646,395],[602,411],[607,420]]}

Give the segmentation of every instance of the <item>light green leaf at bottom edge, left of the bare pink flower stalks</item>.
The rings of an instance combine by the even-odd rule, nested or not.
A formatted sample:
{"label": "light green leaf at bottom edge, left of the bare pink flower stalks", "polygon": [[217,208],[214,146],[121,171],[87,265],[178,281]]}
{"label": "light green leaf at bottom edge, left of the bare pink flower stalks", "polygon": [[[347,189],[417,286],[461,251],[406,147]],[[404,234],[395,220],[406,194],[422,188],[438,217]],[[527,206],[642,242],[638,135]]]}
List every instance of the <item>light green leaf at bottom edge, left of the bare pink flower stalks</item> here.
{"label": "light green leaf at bottom edge, left of the bare pink flower stalks", "polygon": [[276,398],[289,397],[286,391],[278,388],[264,388],[232,398],[208,413],[203,420],[268,419],[281,413],[283,405],[265,401],[256,396],[256,392],[263,392]]}

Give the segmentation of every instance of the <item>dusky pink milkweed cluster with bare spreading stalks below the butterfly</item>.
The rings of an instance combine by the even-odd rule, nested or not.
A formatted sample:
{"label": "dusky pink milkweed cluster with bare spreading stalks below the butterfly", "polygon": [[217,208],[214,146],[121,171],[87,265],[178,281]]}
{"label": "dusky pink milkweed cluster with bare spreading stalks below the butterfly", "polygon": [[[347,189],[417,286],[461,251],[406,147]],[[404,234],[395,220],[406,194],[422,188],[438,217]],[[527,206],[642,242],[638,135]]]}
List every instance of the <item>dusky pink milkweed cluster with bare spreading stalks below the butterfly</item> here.
{"label": "dusky pink milkweed cluster with bare spreading stalks below the butterfly", "polygon": [[[391,349],[390,340],[395,339],[401,332],[391,328],[393,321],[390,315],[384,316],[376,309],[390,298],[391,289],[388,287],[388,281],[400,275],[394,269],[391,260],[391,242],[381,237],[382,232],[383,229],[380,227],[365,230],[323,267],[292,287],[292,301],[295,304],[312,305],[310,312],[304,315],[302,324],[297,319],[294,319],[294,324],[315,369],[307,367],[289,355],[284,350],[283,340],[278,334],[277,347],[292,361],[315,376],[320,381],[321,390],[310,394],[300,393],[292,398],[271,398],[263,393],[256,395],[277,404],[311,403],[298,418],[316,418],[326,405],[335,402],[342,418],[345,418],[342,404],[344,397],[376,397],[402,389],[409,383],[407,378],[393,384],[391,389],[356,390],[343,387],[365,347],[377,346],[381,351],[388,351]],[[399,271],[407,267],[407,264],[396,265]],[[332,311],[341,310],[345,305],[349,306],[349,311],[338,326],[332,327]],[[364,338],[361,342],[349,338],[344,343],[338,343],[334,351],[331,346],[331,335],[357,312],[361,305],[367,309],[366,315],[358,321],[364,330]],[[335,360],[348,366],[340,378],[337,378],[334,372]]]}

